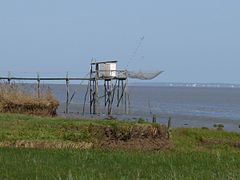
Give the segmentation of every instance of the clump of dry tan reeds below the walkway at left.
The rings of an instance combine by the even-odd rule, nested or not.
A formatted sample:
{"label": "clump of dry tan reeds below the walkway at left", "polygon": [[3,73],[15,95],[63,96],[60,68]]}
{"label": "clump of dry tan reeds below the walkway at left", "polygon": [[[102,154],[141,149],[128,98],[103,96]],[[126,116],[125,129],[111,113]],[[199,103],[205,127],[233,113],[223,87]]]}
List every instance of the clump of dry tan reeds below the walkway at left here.
{"label": "clump of dry tan reeds below the walkway at left", "polygon": [[17,84],[0,84],[0,112],[55,116],[59,102],[50,91],[41,96],[25,92]]}

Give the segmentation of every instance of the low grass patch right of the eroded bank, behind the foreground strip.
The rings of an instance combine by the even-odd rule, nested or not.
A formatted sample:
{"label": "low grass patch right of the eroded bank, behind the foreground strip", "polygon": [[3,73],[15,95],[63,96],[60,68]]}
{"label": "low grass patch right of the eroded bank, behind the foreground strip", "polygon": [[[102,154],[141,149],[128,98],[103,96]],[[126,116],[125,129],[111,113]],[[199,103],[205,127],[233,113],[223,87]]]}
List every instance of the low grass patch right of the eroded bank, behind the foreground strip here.
{"label": "low grass patch right of the eroded bank, behind the foreground strip", "polygon": [[[222,143],[203,144],[204,140],[222,141]],[[240,134],[218,130],[206,130],[197,128],[177,128],[173,130],[174,151],[239,151],[233,146],[240,143]]]}

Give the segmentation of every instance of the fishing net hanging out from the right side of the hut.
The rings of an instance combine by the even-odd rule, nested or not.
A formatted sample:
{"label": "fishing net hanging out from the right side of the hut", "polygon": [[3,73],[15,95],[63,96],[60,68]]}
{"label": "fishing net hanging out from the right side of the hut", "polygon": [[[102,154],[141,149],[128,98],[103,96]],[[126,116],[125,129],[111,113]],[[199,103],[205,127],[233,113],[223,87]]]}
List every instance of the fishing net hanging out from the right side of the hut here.
{"label": "fishing net hanging out from the right side of the hut", "polygon": [[156,72],[128,71],[128,77],[132,79],[151,80],[159,76],[161,73],[163,73],[163,71],[156,71]]}

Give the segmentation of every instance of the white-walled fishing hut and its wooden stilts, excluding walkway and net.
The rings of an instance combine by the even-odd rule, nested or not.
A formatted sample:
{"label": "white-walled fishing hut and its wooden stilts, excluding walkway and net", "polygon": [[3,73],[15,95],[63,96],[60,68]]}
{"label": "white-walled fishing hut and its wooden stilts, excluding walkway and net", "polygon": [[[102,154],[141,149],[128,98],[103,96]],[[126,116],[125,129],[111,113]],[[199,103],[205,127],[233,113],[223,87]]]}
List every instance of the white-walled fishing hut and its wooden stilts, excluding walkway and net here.
{"label": "white-walled fishing hut and its wooden stilts, excluding walkway and net", "polygon": [[[92,60],[88,87],[90,114],[102,113],[100,112],[100,104],[102,103],[108,116],[112,115],[114,105],[116,107],[124,105],[125,114],[128,114],[129,95],[127,84],[127,70],[118,70],[117,61],[96,62],[96,60]],[[101,92],[100,85],[102,85]],[[101,93],[102,95],[100,95]]]}

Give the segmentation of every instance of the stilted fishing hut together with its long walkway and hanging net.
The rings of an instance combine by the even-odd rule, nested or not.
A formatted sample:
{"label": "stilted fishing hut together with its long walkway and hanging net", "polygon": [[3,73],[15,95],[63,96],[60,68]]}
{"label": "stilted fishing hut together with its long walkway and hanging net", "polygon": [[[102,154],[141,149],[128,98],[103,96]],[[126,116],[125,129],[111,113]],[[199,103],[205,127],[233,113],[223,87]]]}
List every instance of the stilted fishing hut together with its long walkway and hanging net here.
{"label": "stilted fishing hut together with its long walkway and hanging net", "polygon": [[[64,113],[69,114],[69,106],[76,94],[70,94],[70,81],[87,81],[88,86],[84,96],[82,114],[85,115],[86,106],[89,105],[91,115],[106,114],[129,114],[130,98],[128,92],[128,79],[151,80],[160,75],[163,71],[156,72],[132,72],[117,69],[117,61],[92,60],[90,72],[86,77],[15,77],[11,73],[8,76],[0,76],[1,81],[11,84],[12,81],[35,81],[37,82],[37,97],[41,97],[41,82],[43,81],[65,81],[66,102]],[[114,109],[115,108],[115,109]],[[117,113],[116,113],[117,112]]]}

